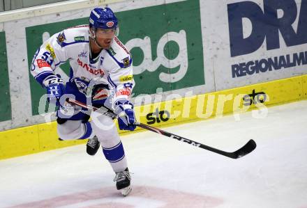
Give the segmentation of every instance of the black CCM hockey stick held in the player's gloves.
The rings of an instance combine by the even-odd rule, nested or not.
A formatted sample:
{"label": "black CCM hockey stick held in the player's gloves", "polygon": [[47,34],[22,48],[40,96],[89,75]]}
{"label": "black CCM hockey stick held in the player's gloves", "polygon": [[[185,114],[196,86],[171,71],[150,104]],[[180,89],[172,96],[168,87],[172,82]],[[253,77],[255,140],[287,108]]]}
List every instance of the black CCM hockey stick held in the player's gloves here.
{"label": "black CCM hockey stick held in the player's gloves", "polygon": [[[94,106],[90,106],[90,105],[84,104],[82,102],[79,102],[79,101],[77,101],[75,99],[70,99],[70,98],[66,99],[66,102],[68,102],[70,104],[75,104],[77,106],[81,106],[82,108],[89,109],[91,111],[98,111],[99,113],[101,113],[103,115],[107,115],[107,116],[109,116],[111,118],[117,118],[117,115],[114,112],[112,112],[112,111],[110,111],[110,110],[108,110],[106,108],[103,108],[103,107],[98,109],[98,108],[96,108]],[[216,149],[214,147],[209,147],[207,145],[203,145],[202,143],[197,143],[197,142],[195,142],[193,140],[190,140],[188,138],[184,138],[182,136],[178,136],[176,134],[172,134],[170,132],[163,131],[161,129],[157,129],[156,127],[151,127],[149,125],[144,125],[142,123],[138,123],[137,127],[141,127],[143,129],[147,129],[149,131],[153,131],[153,132],[156,132],[158,134],[162,134],[164,136],[168,136],[170,138],[177,139],[178,141],[182,141],[184,143],[188,143],[190,145],[193,145],[193,146],[196,146],[196,147],[200,147],[202,149],[209,150],[211,152],[216,152],[217,154],[221,154],[221,155],[224,155],[225,157],[230,157],[230,158],[233,158],[233,159],[238,159],[239,157],[244,157],[244,155],[246,155],[246,154],[252,152],[253,150],[255,150],[255,148],[257,146],[255,141],[253,141],[253,139],[251,139],[250,141],[248,141],[248,143],[246,143],[239,150],[234,151],[234,152],[225,152],[223,150],[218,150],[218,149]]]}

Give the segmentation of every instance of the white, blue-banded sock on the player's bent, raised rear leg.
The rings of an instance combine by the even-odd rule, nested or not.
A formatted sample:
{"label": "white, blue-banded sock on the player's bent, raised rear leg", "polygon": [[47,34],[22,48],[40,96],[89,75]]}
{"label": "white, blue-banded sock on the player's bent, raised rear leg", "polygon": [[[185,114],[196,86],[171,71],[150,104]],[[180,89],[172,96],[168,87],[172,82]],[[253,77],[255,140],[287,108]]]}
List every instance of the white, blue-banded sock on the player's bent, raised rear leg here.
{"label": "white, blue-banded sock on the player's bent, raised rear leg", "polygon": [[63,140],[88,138],[91,135],[91,125],[89,122],[82,123],[81,120],[67,120],[61,125],[57,125],[59,137]]}

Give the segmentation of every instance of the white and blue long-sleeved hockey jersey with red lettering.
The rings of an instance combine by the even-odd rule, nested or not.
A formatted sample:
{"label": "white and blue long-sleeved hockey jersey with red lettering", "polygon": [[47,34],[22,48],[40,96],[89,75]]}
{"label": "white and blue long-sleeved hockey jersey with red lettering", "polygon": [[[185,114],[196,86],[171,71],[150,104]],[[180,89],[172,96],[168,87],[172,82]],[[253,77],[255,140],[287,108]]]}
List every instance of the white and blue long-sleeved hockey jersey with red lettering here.
{"label": "white and blue long-sleeved hockey jersey with red lettering", "polygon": [[44,86],[45,78],[68,60],[71,68],[66,86],[73,86],[86,95],[89,86],[93,87],[93,81],[103,78],[107,82],[108,92],[100,90],[93,99],[112,96],[112,104],[118,99],[129,99],[135,85],[132,57],[117,36],[114,36],[110,49],[101,50],[96,58],[91,59],[90,53],[89,26],[63,30],[52,35],[36,51],[31,74]]}

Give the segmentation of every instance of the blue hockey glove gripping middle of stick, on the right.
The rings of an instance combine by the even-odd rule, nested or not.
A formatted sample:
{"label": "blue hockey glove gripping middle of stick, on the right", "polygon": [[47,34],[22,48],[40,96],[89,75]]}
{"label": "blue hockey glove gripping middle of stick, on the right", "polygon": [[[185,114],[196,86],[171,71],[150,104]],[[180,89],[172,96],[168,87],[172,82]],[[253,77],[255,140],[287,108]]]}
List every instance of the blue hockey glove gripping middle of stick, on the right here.
{"label": "blue hockey glove gripping middle of stick, on the right", "polygon": [[119,99],[115,102],[115,113],[119,115],[119,129],[130,130],[135,129],[135,113],[133,111],[133,104],[127,99]]}

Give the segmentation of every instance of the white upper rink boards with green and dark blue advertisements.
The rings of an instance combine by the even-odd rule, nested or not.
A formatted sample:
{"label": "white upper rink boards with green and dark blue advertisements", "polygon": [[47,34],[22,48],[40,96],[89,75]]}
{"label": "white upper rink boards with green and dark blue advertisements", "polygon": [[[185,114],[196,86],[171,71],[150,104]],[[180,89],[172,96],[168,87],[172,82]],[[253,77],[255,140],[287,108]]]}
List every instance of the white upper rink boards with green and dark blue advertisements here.
{"label": "white upper rink boards with green and dark blue advertisements", "polygon": [[[145,104],[160,88],[154,102],[307,74],[306,1],[93,0],[13,10],[0,14],[0,131],[45,122],[45,90],[29,72],[37,48],[88,24],[92,8],[105,4],[133,56],[133,99],[150,95]],[[64,63],[56,72],[67,81],[69,70]]]}

